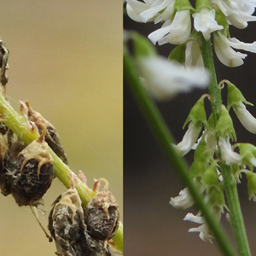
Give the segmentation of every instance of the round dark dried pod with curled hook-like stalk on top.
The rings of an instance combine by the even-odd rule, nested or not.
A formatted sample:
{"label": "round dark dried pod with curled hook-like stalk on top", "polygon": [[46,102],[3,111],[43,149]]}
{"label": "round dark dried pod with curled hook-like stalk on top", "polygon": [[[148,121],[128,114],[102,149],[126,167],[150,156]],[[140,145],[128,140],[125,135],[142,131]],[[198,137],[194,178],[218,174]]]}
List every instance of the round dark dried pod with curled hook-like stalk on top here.
{"label": "round dark dried pod with curled hook-like stalk on top", "polygon": [[104,181],[106,185],[89,202],[84,214],[84,223],[87,225],[87,230],[91,237],[108,241],[118,230],[119,211],[112,193],[108,191],[108,181],[101,178],[96,183],[100,181]]}

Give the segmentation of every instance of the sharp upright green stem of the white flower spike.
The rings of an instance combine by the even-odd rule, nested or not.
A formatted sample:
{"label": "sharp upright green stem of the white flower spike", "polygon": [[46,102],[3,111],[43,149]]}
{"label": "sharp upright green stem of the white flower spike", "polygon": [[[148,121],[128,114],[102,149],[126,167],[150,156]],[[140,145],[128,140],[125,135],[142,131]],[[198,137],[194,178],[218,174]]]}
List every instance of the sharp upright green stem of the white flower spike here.
{"label": "sharp upright green stem of the white flower spike", "polygon": [[[201,35],[201,54],[205,67],[211,75],[211,82],[209,84],[209,94],[213,98],[212,102],[212,114],[214,117],[215,124],[218,121],[218,108],[220,107],[222,100],[220,89],[218,88],[216,73],[212,57],[212,45],[211,41],[206,41]],[[218,138],[217,138],[218,139]],[[240,256],[250,256],[250,248],[247,242],[247,235],[245,226],[242,219],[241,207],[239,197],[236,188],[236,180],[233,176],[230,166],[225,164],[219,164],[221,173],[224,178],[224,189],[226,192],[226,198],[228,207],[230,209],[230,221],[232,224],[233,232],[236,237],[236,245]]]}

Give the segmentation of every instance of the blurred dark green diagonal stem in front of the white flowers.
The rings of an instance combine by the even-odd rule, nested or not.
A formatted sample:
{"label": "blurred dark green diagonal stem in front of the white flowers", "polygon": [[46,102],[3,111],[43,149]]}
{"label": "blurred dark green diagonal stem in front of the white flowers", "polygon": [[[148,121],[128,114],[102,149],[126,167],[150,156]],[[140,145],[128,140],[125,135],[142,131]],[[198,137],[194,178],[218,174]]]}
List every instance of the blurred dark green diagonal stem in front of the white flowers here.
{"label": "blurred dark green diagonal stem in front of the white flowers", "polygon": [[131,93],[136,99],[146,120],[148,121],[148,125],[152,128],[155,137],[157,138],[161,147],[164,149],[168,160],[170,160],[174,170],[177,173],[177,176],[180,178],[183,184],[189,188],[189,192],[193,196],[197,207],[201,210],[208,226],[212,230],[212,234],[216,237],[218,246],[225,256],[236,255],[233,248],[230,246],[230,241],[228,241],[227,237],[224,235],[224,230],[220,227],[212,212],[203,202],[202,196],[195,187],[192,179],[189,177],[188,166],[185,164],[184,160],[177,155],[176,150],[174,150],[172,147],[172,135],[170,134],[170,131],[168,131],[164,120],[161,118],[158,109],[154,105],[154,102],[152,102],[148,97],[148,94],[140,83],[136,72],[135,63],[129,55],[127,49],[124,49],[124,74],[125,81],[127,84],[129,84]]}

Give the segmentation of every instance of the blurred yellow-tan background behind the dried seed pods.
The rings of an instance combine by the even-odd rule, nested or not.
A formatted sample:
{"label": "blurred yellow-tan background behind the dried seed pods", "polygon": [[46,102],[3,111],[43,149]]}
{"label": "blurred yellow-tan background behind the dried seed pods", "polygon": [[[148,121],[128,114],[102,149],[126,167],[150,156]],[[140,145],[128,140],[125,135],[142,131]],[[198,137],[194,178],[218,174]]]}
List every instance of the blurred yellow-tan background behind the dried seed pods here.
{"label": "blurred yellow-tan background behind the dried seed pods", "polygon": [[[122,1],[0,1],[0,36],[9,55],[9,102],[55,125],[70,167],[91,186],[106,177],[123,209]],[[44,210],[65,190],[57,180]],[[1,255],[55,255],[29,207],[0,195]],[[44,227],[47,218],[39,214]]]}

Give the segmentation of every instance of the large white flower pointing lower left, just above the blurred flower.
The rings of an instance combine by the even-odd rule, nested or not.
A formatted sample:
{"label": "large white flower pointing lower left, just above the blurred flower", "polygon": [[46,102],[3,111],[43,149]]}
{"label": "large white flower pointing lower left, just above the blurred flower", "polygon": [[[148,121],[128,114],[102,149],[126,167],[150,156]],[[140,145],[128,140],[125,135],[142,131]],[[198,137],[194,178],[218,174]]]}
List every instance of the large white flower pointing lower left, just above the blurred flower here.
{"label": "large white flower pointing lower left, just above the blurred flower", "polygon": [[191,32],[191,19],[189,10],[177,12],[173,20],[166,20],[163,26],[148,35],[153,44],[183,44]]}

